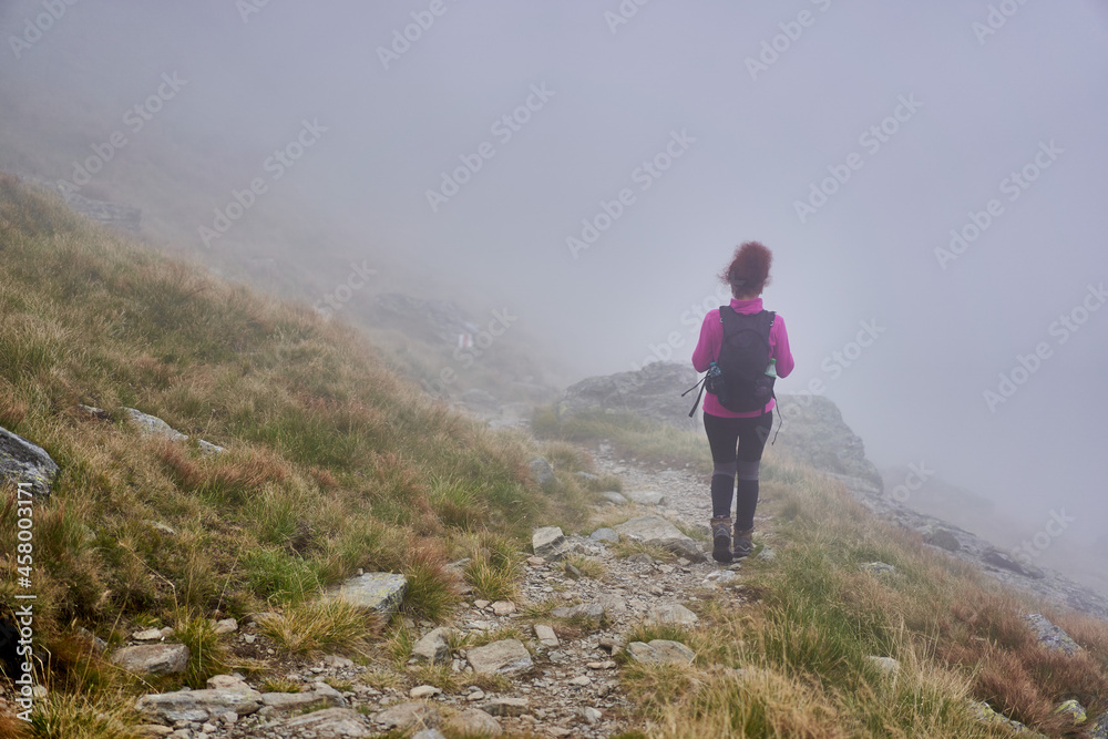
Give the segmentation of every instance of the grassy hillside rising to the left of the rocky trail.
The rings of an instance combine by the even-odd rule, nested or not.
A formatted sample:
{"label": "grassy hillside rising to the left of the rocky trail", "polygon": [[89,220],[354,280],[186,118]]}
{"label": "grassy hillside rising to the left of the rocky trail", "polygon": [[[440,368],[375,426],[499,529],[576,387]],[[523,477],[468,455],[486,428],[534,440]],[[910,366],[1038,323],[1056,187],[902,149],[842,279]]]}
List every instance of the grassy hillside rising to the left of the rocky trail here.
{"label": "grassy hillside rising to the left of the rocky trail", "polygon": [[[489,431],[343,325],[88,225],[4,175],[0,258],[0,425],[61,468],[34,528],[37,638],[59,655],[79,626],[117,639],[217,612],[291,613],[358,568],[404,572],[407,610],[435,618],[456,601],[449,558],[581,520],[588,493],[572,473],[588,460],[568,447]],[[143,438],[123,407],[228,452]],[[556,494],[532,481],[537,452]],[[0,612],[16,592],[11,499],[8,486]],[[59,658],[61,692],[89,682],[73,677],[88,660]]]}

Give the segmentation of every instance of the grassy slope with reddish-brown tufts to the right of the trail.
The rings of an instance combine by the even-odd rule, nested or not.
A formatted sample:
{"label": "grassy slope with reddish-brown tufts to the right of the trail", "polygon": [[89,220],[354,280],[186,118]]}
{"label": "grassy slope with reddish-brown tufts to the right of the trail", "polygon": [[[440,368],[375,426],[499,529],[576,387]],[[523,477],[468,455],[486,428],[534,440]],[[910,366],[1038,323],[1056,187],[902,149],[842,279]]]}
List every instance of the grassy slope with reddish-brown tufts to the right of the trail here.
{"label": "grassy slope with reddish-brown tufts to the right of the trail", "polygon": [[[547,438],[606,441],[640,462],[711,469],[699,434],[618,414],[560,424],[535,418]],[[762,465],[756,543],[776,558],[743,563],[736,607],[704,594],[689,632],[643,627],[630,639],[671,638],[698,654],[689,668],[628,664],[625,687],[650,737],[1006,737],[978,723],[971,699],[1050,737],[1073,727],[1053,711],[1076,698],[1095,717],[1108,707],[1108,626],[1005,592],[976,568],[879,521],[849,492],[769,448]],[[892,564],[873,575],[861,565]],[[1042,647],[1022,619],[1043,613],[1085,649]],[[901,664],[884,678],[866,659]],[[728,668],[745,670],[736,679]],[[623,739],[643,736],[629,732]]]}

